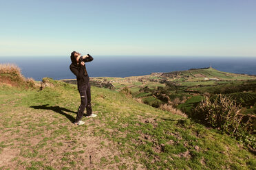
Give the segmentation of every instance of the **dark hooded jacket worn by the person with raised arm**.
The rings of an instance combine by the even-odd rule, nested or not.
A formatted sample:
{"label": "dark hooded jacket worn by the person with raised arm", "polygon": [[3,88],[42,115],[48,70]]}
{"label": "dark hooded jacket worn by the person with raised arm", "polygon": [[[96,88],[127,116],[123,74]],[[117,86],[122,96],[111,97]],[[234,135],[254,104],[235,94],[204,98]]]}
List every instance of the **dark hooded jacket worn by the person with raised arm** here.
{"label": "dark hooded jacket worn by the person with raised arm", "polygon": [[[88,58],[83,59],[84,62],[91,62],[94,60],[92,56],[89,56]],[[85,65],[82,66],[81,64],[70,64],[70,70],[74,75],[76,75],[76,80],[77,80],[77,86],[81,86],[83,84],[87,84],[89,82],[89,76],[86,71]]]}

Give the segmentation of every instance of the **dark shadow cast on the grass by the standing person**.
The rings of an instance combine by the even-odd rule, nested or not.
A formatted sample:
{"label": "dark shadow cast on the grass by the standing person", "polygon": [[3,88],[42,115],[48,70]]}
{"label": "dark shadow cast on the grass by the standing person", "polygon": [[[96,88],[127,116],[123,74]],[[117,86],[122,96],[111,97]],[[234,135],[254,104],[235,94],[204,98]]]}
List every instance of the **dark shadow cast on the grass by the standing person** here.
{"label": "dark shadow cast on the grass by the standing person", "polygon": [[41,105],[41,106],[30,106],[30,108],[52,110],[54,112],[62,114],[63,116],[67,117],[67,119],[69,119],[72,123],[74,123],[74,121],[75,121],[74,117],[72,117],[70,114],[67,114],[65,112],[72,112],[72,113],[76,113],[76,112],[74,112],[72,110],[69,110],[69,109],[66,109],[66,108],[61,108],[59,106],[48,106],[48,105],[49,104],[44,104],[44,105]]}

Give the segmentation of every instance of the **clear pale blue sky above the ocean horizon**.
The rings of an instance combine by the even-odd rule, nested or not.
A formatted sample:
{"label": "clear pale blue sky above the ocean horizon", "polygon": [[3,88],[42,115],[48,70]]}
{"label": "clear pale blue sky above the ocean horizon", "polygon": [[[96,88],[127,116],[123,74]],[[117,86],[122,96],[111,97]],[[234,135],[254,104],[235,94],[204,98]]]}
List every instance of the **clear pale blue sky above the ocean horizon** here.
{"label": "clear pale blue sky above the ocean horizon", "polygon": [[255,56],[255,0],[1,0],[0,56]]}

